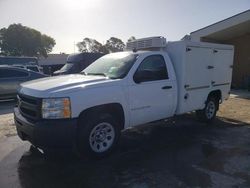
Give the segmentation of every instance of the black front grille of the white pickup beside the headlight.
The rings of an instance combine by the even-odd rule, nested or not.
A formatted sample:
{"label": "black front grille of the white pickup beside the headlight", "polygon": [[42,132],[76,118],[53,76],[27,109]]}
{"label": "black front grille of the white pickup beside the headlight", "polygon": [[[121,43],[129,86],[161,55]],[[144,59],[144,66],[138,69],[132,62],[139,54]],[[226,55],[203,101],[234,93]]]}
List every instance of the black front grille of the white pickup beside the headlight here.
{"label": "black front grille of the white pickup beside the headlight", "polygon": [[41,117],[41,99],[18,94],[18,108],[20,113],[31,121],[36,121]]}

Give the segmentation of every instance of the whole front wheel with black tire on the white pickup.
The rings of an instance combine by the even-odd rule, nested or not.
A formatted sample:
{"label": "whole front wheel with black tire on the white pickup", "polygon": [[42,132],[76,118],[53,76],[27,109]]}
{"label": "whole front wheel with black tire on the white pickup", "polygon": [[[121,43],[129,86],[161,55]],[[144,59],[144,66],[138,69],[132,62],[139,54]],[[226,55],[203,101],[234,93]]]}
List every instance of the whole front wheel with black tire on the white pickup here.
{"label": "whole front wheel with black tire on the white pickup", "polygon": [[107,113],[92,113],[82,117],[78,126],[77,147],[80,157],[98,159],[107,156],[114,150],[121,134],[118,121]]}

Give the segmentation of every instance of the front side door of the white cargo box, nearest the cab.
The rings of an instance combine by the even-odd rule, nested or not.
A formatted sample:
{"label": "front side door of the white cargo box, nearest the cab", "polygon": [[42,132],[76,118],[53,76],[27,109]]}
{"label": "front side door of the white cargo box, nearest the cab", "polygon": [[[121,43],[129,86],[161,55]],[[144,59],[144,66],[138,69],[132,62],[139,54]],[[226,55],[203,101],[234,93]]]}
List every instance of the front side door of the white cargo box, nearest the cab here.
{"label": "front side door of the white cargo box, nearest the cab", "polygon": [[204,101],[211,87],[213,71],[212,49],[188,47],[185,62],[185,92],[182,94],[182,111],[204,108]]}

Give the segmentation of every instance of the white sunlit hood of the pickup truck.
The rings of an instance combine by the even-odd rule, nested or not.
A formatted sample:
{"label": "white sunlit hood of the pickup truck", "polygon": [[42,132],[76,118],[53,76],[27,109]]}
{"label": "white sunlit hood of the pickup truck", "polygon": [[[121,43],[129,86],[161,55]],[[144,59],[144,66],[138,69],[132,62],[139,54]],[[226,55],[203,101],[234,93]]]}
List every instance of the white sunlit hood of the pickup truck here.
{"label": "white sunlit hood of the pickup truck", "polygon": [[85,76],[81,74],[70,74],[54,76],[24,82],[19,88],[19,93],[34,97],[51,97],[58,93],[71,93],[80,88],[90,87],[103,83],[109,83],[113,80],[103,76]]}

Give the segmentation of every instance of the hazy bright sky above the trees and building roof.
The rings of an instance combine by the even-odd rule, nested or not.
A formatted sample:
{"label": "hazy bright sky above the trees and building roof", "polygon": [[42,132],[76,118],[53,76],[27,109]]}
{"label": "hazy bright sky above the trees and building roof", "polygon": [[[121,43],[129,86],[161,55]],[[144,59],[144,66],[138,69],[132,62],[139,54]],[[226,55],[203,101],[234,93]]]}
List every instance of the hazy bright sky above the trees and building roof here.
{"label": "hazy bright sky above the trees and building roof", "polygon": [[53,37],[52,53],[73,53],[85,37],[179,40],[248,9],[250,0],[0,0],[0,28],[21,23]]}

